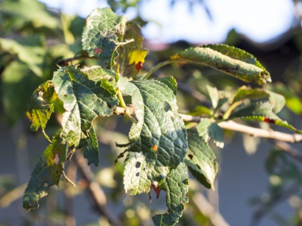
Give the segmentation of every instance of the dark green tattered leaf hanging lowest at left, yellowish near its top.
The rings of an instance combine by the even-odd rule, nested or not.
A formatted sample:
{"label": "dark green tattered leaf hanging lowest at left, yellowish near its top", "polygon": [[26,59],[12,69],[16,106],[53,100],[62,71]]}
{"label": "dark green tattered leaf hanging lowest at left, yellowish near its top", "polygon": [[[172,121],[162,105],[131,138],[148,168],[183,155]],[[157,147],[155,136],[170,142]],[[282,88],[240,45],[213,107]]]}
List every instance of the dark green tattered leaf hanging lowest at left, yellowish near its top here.
{"label": "dark green tattered leaf hanging lowest at left, yellowish near its top", "polygon": [[39,207],[38,200],[47,195],[52,185],[58,185],[63,173],[63,162],[68,149],[67,144],[61,144],[62,139],[57,133],[40,157],[23,197],[23,208],[27,211]]}

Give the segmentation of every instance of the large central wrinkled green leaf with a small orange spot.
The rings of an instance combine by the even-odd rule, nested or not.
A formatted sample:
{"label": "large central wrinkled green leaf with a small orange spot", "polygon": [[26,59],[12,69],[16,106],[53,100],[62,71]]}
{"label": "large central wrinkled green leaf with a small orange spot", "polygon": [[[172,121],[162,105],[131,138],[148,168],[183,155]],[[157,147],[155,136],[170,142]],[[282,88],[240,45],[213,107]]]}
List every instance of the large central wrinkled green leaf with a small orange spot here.
{"label": "large central wrinkled green leaf with a small orange spot", "polygon": [[160,81],[127,82],[123,77],[118,86],[131,96],[137,119],[129,132],[128,151],[141,151],[157,166],[177,167],[186,154],[187,135],[172,90]]}

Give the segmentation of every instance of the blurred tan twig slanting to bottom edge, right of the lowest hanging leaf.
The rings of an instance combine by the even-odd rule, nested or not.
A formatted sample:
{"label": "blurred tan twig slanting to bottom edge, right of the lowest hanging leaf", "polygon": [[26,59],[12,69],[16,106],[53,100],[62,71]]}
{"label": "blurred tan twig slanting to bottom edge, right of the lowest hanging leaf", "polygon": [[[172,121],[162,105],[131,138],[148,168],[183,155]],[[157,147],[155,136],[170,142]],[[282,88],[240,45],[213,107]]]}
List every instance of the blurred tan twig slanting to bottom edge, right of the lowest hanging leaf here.
{"label": "blurred tan twig slanting to bottom edge, right of the lowest hanging leaf", "polygon": [[193,202],[197,206],[200,212],[207,216],[213,225],[215,226],[230,226],[225,221],[223,216],[215,210],[215,208],[208,202],[208,200],[201,193],[197,193],[193,196]]}

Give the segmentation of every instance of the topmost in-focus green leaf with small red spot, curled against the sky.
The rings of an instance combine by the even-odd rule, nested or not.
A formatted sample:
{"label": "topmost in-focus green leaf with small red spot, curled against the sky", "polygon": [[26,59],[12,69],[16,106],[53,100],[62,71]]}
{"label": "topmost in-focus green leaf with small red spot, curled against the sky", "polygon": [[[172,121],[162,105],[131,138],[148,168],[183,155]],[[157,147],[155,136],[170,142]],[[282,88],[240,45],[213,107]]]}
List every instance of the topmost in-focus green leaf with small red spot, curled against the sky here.
{"label": "topmost in-focus green leaf with small red spot, curled against the sky", "polygon": [[118,56],[119,35],[125,33],[127,21],[126,17],[116,15],[109,8],[95,9],[86,19],[82,34],[83,49],[89,56],[99,57],[103,66],[111,68]]}

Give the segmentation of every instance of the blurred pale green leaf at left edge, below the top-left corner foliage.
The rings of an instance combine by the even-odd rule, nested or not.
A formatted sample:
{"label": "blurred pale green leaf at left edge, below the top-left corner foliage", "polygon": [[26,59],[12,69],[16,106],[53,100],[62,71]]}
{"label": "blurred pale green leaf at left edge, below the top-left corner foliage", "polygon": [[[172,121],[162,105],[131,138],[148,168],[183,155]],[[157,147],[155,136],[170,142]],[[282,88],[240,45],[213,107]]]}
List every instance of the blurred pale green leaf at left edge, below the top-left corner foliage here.
{"label": "blurred pale green leaf at left edge, below the top-left corner foliage", "polygon": [[42,77],[46,51],[40,36],[28,36],[16,40],[0,38],[0,46],[4,51],[17,54],[18,58],[37,76]]}

